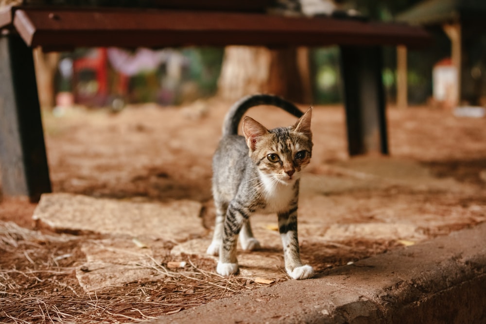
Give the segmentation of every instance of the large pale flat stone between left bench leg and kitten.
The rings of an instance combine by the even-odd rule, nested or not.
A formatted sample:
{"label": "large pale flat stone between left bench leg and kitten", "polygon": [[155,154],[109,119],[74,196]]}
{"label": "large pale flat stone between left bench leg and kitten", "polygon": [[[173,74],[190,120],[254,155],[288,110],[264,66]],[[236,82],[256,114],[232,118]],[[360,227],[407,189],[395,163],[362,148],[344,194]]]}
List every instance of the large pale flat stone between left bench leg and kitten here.
{"label": "large pale flat stone between left bench leg and kitten", "polygon": [[33,218],[56,231],[125,234],[184,241],[203,236],[202,205],[191,200],[138,203],[69,193],[42,195]]}

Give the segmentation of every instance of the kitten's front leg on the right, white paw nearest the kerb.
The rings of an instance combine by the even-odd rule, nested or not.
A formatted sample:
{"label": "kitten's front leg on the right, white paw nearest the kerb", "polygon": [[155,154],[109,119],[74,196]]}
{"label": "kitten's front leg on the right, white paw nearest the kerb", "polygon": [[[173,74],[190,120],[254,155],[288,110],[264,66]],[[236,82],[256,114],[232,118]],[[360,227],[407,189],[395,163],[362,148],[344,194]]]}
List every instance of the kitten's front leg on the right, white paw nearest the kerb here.
{"label": "kitten's front leg on the right, white paw nearest the kerb", "polygon": [[278,213],[278,230],[283,245],[285,270],[293,279],[308,279],[313,270],[300,261],[299,241],[297,237],[297,206],[287,212]]}

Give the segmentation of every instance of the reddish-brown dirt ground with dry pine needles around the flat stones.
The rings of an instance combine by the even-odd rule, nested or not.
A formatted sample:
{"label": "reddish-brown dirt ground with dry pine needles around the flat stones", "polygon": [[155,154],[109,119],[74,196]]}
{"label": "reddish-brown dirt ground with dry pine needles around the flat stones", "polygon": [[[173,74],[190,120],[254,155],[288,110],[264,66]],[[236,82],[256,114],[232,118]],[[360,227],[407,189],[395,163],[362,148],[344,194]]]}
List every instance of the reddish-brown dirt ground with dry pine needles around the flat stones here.
{"label": "reddish-brown dirt ground with dry pine needles around the flat stones", "polygon": [[[231,102],[209,99],[184,107],[133,105],[119,113],[111,113],[104,109],[86,110],[81,107],[64,109],[57,111],[56,114],[45,111],[43,122],[53,192],[148,202],[171,199],[195,200],[206,206],[206,212],[202,215],[202,224],[210,228],[214,217],[210,194],[211,156],[220,136],[222,119],[230,104]],[[290,125],[294,122],[292,116],[272,107],[253,108],[248,115],[268,128]],[[346,215],[339,215],[339,222],[343,224],[373,222],[377,217],[373,210],[385,207],[386,213],[390,215],[407,216],[417,214],[419,210],[421,215],[426,215],[427,219],[424,222],[431,224],[423,226],[423,234],[427,237],[447,234],[453,230],[484,222],[486,217],[486,119],[454,117],[451,112],[425,106],[405,110],[390,107],[387,110],[387,119],[391,157],[349,158],[343,107],[317,106],[314,109],[312,117],[314,151],[308,173],[350,174],[364,182],[367,180],[372,182],[373,175],[380,174],[381,179],[398,177],[400,181],[409,181],[411,176],[407,173],[410,171],[406,167],[408,164],[398,164],[404,166],[400,170],[396,168],[387,170],[384,167],[387,163],[382,162],[390,159],[412,161],[428,172],[428,176],[423,177],[423,183],[420,176],[414,174],[414,189],[399,185],[361,186],[325,192],[326,196],[332,197],[339,203],[341,209],[336,208],[336,210],[347,210]],[[444,191],[440,188],[428,187],[431,177],[439,180],[451,179],[449,182],[451,186],[464,186],[468,190],[454,191],[452,188]],[[315,204],[319,202],[316,200]],[[369,204],[360,208],[355,206],[357,202],[369,202]],[[407,209],[407,205],[411,206],[412,202],[417,206]],[[47,281],[51,285],[49,289],[58,292],[59,298],[62,297],[60,291],[64,291],[65,294],[72,291],[73,296],[78,296],[73,303],[92,300],[92,297],[81,296],[81,290],[73,283],[73,269],[85,257],[77,248],[79,241],[84,238],[78,236],[74,239],[59,239],[62,235],[50,232],[42,227],[42,224],[32,220],[35,207],[36,204],[19,198],[2,197],[0,203],[1,222],[15,222],[25,230],[37,230],[39,226],[42,228],[42,232],[25,233],[22,229],[15,229],[18,233],[16,232],[13,237],[7,235],[14,231],[13,227],[8,225],[2,232],[3,245],[0,244],[0,249],[3,251],[0,272],[3,279],[8,279],[5,282],[12,282],[12,284],[1,284],[3,287],[0,289],[3,292],[0,291],[0,308],[4,309],[4,314],[0,312],[0,321],[15,322],[17,319],[21,322],[22,318],[27,315],[32,316],[33,313],[37,314],[35,317],[37,323],[49,320],[49,312],[34,310],[42,307],[33,306],[33,309],[27,313],[16,313],[18,309],[15,308],[15,305],[29,301],[25,296],[30,296],[35,305],[35,301],[38,301],[36,298],[40,298],[35,287]],[[319,206],[314,207],[319,208]],[[322,205],[322,208],[329,208],[329,205]],[[456,220],[447,224],[443,222],[444,217],[451,214],[457,214]],[[413,222],[413,217],[411,218]],[[17,246],[23,244],[22,246],[29,248],[19,256],[18,252],[12,249],[16,244]],[[167,248],[171,248],[171,243],[167,244]],[[303,253],[310,263],[318,264],[317,271],[323,271],[389,249],[400,248],[404,244],[406,242],[390,239],[377,238],[373,241],[364,241],[353,240],[351,237],[347,238],[345,247],[343,242],[333,246],[336,248],[335,253],[326,255],[325,263],[320,262],[323,254],[317,253],[320,247],[314,250],[312,244],[309,244],[303,249]],[[344,248],[338,249],[339,246]],[[58,258],[52,257],[53,255],[69,256]],[[164,262],[171,260],[171,256],[166,256]],[[104,312],[102,318],[107,322],[149,319],[151,316],[181,311],[213,298],[222,298],[231,293],[260,287],[260,284],[245,278],[229,281],[217,278],[209,273],[213,266],[211,262],[201,261],[198,265],[191,265],[190,270],[193,277],[196,276],[194,273],[202,277],[209,276],[216,286],[225,286],[224,290],[209,293],[208,290],[204,290],[205,287],[195,284],[198,281],[176,275],[176,272],[167,272],[164,276],[171,278],[172,282],[165,286],[160,283],[129,283],[123,290],[117,290],[116,293],[111,291],[110,298],[116,295],[127,299],[129,296],[128,300],[132,304],[141,303],[140,295],[146,293],[150,297],[146,297],[150,299],[150,303],[156,301],[160,303],[161,296],[164,294],[187,296],[194,294],[195,291],[206,291],[205,294],[193,296],[192,302],[186,304],[177,299],[180,296],[174,297],[178,302],[167,302],[167,305],[170,305],[158,313],[142,311],[143,314],[140,312],[140,314],[130,313],[129,315],[125,304],[116,304],[117,306],[113,308],[113,304],[108,302],[111,299],[107,297],[105,300],[107,306],[104,310],[111,310],[109,314]],[[53,271],[52,267],[57,267],[57,272]],[[17,275],[12,272],[12,269],[16,269]],[[33,275],[33,271],[38,273]],[[26,275],[26,273],[30,274]],[[21,279],[22,276],[25,278]],[[141,286],[144,288],[140,288]],[[22,287],[25,289],[23,297],[14,298],[10,295],[9,291],[19,290]],[[41,289],[46,290],[46,288]],[[144,292],[141,293],[141,290]],[[52,291],[48,292],[52,294]],[[106,296],[108,295],[106,293]],[[101,305],[102,297],[99,298]],[[167,297],[167,300],[169,299]],[[193,302],[194,300],[197,302]],[[110,305],[112,308],[109,308]],[[137,309],[142,309],[141,307]],[[5,309],[10,309],[10,313]],[[100,309],[98,307],[96,311],[89,314],[81,312],[78,315],[85,316],[83,318],[86,321],[93,318],[99,319],[100,314],[103,313],[103,309]],[[62,314],[65,314],[65,318],[71,316],[68,316],[71,314],[68,310],[56,314],[59,316],[58,319],[63,318]],[[117,317],[113,314],[120,315]]]}

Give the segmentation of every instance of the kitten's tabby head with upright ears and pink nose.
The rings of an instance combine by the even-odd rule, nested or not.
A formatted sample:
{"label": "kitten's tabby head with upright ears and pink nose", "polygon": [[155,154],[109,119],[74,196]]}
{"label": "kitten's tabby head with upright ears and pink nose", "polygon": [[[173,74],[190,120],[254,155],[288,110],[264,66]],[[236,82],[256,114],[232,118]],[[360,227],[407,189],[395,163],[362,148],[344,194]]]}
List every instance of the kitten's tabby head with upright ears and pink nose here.
{"label": "kitten's tabby head with upright ears and pink nose", "polygon": [[301,176],[312,156],[312,107],[293,126],[266,129],[255,119],[243,119],[248,153],[260,172],[278,183]]}

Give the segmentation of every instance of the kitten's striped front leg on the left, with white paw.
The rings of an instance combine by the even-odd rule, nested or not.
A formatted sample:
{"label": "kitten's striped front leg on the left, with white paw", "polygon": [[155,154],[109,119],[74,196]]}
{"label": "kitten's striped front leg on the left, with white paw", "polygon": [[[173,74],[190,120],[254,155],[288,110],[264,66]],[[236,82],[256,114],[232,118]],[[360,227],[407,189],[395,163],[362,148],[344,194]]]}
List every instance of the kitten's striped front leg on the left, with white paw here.
{"label": "kitten's striped front leg on the left, with white paw", "polygon": [[225,226],[223,231],[223,242],[219,252],[219,262],[216,271],[229,276],[238,272],[238,259],[236,257],[236,244],[238,234],[243,223],[248,219],[248,215],[241,208],[230,204],[226,212]]}

